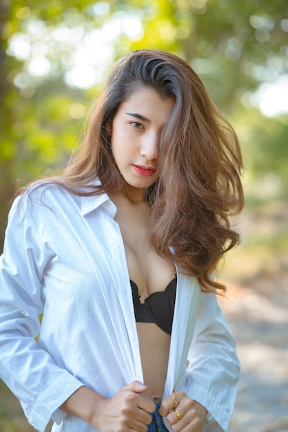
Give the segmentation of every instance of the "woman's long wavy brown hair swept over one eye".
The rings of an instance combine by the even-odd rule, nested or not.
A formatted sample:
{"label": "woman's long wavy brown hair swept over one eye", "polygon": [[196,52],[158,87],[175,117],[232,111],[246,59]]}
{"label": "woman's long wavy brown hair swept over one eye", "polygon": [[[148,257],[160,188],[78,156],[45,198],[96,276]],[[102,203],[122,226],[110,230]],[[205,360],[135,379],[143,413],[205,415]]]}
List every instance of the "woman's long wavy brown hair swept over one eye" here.
{"label": "woman's long wavy brown hair swept over one eye", "polygon": [[[61,184],[64,180],[65,188],[78,195],[121,190],[123,177],[112,157],[106,127],[139,86],[175,101],[161,135],[160,176],[145,195],[152,247],[196,276],[203,291],[223,292],[225,286],[212,275],[223,253],[239,241],[230,224],[243,208],[243,162],[234,129],[183,59],[136,50],[116,62],[92,105],[88,130]],[[101,186],[91,187],[95,179]]]}

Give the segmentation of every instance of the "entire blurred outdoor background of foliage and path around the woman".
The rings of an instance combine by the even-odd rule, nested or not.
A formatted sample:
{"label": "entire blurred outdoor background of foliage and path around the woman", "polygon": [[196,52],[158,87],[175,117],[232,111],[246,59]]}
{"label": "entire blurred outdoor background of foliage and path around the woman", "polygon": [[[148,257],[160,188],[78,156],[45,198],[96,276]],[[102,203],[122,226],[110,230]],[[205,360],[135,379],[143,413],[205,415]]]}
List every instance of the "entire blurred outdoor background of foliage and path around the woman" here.
{"label": "entire blurred outdoor background of foliage and path around the woman", "polygon": [[[167,50],[198,72],[245,160],[243,239],[219,270],[242,363],[229,432],[287,432],[287,2],[1,0],[0,32],[1,250],[15,190],[65,166],[117,58]],[[3,382],[0,430],[34,430]]]}

